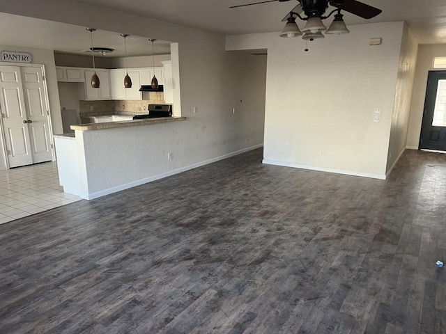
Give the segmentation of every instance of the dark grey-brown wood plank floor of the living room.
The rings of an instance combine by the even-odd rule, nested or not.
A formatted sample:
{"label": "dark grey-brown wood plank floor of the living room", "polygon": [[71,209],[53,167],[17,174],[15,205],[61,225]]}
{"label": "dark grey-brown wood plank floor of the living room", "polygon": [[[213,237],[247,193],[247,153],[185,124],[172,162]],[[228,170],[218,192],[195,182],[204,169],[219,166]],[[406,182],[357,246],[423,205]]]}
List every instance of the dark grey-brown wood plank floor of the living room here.
{"label": "dark grey-brown wood plank floor of the living room", "polygon": [[0,225],[0,333],[446,333],[446,155],[255,150]]}

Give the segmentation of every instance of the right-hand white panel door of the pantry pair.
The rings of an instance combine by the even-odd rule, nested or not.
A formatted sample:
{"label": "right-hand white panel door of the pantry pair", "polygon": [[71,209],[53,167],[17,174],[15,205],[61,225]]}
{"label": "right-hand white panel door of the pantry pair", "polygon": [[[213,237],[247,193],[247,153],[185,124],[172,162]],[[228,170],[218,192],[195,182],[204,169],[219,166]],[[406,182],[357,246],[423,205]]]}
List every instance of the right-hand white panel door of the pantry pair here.
{"label": "right-hand white panel door of the pantry pair", "polygon": [[20,67],[33,164],[52,160],[49,111],[42,67]]}

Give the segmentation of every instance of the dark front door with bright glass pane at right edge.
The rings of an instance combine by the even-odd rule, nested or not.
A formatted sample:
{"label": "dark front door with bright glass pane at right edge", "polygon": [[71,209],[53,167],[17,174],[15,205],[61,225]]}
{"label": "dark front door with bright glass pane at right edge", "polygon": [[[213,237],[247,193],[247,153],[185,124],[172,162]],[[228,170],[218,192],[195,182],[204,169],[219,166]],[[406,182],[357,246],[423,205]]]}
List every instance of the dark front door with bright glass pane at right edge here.
{"label": "dark front door with bright glass pane at right edge", "polygon": [[418,148],[446,151],[446,71],[429,71]]}

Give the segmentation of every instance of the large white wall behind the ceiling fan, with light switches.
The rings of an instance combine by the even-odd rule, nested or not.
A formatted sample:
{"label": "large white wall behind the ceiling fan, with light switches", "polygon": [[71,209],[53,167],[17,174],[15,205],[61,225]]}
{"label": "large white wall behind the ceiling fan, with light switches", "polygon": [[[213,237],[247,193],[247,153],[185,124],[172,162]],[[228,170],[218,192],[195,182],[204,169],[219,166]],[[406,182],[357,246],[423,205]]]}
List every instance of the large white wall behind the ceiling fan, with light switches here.
{"label": "large white wall behind the ceiling fan, with light switches", "polygon": [[228,50],[268,49],[266,163],[385,177],[403,22],[348,28],[308,52],[277,33],[226,38]]}

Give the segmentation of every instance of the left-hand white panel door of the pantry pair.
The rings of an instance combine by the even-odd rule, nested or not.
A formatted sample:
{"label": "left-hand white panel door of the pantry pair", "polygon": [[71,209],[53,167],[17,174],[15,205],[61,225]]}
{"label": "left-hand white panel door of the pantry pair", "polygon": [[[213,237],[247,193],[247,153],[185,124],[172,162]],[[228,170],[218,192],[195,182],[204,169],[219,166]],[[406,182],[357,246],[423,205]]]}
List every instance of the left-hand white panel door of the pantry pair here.
{"label": "left-hand white panel door of the pantry pair", "polygon": [[33,164],[18,66],[0,66],[0,109],[10,167]]}

